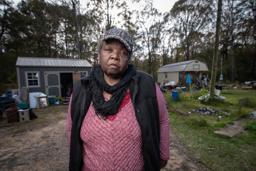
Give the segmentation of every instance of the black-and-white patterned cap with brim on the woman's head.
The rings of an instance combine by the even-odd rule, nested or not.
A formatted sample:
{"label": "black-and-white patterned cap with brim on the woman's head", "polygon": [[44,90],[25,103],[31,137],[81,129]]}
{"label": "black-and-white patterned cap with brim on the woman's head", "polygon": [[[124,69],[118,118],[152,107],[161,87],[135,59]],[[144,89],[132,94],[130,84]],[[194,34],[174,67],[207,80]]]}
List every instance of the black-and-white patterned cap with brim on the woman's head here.
{"label": "black-and-white patterned cap with brim on the woman's head", "polygon": [[102,38],[102,41],[106,39],[117,39],[124,43],[125,47],[129,52],[132,52],[133,39],[127,31],[121,28],[111,28],[110,30],[106,31],[105,35]]}

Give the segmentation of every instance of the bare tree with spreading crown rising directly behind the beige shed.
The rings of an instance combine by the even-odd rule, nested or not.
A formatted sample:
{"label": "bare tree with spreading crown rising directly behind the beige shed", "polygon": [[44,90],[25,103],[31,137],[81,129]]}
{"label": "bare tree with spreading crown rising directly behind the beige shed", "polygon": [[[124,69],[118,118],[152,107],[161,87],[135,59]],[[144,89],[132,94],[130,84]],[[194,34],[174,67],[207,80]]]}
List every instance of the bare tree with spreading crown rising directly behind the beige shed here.
{"label": "bare tree with spreading crown rising directly behind the beige shed", "polygon": [[213,0],[179,0],[169,13],[169,18],[177,30],[186,61],[191,59],[194,35],[202,32],[211,21],[212,3]]}

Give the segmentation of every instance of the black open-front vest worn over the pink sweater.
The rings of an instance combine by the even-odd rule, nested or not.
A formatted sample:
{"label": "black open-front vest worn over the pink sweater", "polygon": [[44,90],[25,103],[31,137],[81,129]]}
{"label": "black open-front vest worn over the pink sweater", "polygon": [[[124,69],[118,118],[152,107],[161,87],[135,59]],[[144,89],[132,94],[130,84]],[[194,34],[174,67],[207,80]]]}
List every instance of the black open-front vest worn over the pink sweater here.
{"label": "black open-front vest worn over the pink sweater", "polygon": [[[154,78],[143,71],[137,71],[137,74],[132,77],[128,89],[135,115],[141,128],[141,151],[144,158],[145,171],[159,171],[159,113]],[[90,92],[88,77],[81,78],[75,82],[70,110],[72,119],[69,153],[70,171],[80,171],[82,167],[80,129],[91,104]]]}

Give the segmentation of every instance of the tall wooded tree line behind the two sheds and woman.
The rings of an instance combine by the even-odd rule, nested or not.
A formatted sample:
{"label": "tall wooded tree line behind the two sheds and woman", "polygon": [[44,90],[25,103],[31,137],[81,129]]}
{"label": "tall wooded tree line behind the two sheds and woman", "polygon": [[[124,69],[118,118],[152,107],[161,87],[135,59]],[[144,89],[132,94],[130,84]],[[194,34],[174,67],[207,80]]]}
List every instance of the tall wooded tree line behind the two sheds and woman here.
{"label": "tall wooded tree line behind the two sheds and woman", "polygon": [[[132,8],[130,6],[139,6]],[[0,82],[17,88],[18,56],[87,59],[98,64],[98,39],[110,28],[134,38],[131,63],[157,80],[163,65],[193,59],[211,74],[217,0],[178,0],[166,13],[152,0],[0,0]],[[256,1],[223,0],[217,80],[256,79]],[[16,86],[16,87],[15,87]]]}

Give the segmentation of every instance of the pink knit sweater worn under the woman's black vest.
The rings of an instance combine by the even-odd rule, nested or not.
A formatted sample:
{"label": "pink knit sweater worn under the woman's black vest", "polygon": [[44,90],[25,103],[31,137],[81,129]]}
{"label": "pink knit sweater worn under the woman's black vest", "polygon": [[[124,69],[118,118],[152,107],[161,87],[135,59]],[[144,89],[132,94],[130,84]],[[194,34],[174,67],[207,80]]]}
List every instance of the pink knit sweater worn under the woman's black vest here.
{"label": "pink knit sweater worn under the woman's black vest", "polygon": [[[169,116],[163,94],[157,85],[156,95],[160,117],[161,158],[169,160]],[[67,120],[69,146],[72,127],[70,104],[71,102]],[[91,102],[82,123],[80,137],[84,149],[82,170],[143,170],[141,130],[129,93],[126,93],[122,100],[118,113],[108,117],[106,121],[95,115]]]}

